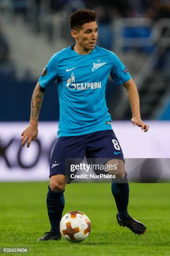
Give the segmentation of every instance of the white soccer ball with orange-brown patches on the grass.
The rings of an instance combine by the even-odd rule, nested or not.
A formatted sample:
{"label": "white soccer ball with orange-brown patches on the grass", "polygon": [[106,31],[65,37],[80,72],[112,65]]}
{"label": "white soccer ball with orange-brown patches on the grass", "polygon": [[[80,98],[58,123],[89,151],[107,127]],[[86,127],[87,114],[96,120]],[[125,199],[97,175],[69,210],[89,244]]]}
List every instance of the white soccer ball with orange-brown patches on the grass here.
{"label": "white soccer ball with orange-brown patches on the grass", "polygon": [[72,243],[85,240],[90,234],[90,228],[90,220],[83,212],[68,212],[60,221],[61,235],[65,240]]}

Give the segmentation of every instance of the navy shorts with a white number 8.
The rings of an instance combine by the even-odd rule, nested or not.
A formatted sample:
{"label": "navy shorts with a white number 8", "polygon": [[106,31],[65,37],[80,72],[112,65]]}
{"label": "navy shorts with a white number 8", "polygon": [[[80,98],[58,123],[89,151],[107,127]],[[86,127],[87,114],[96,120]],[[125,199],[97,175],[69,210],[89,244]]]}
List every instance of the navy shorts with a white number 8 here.
{"label": "navy shorts with a white number 8", "polygon": [[[112,130],[97,131],[79,136],[63,136],[56,140],[50,160],[50,177],[66,175],[66,159],[122,159],[122,149]],[[107,161],[102,160],[102,163]],[[88,161],[87,161],[88,162]],[[101,164],[101,162],[100,162]]]}

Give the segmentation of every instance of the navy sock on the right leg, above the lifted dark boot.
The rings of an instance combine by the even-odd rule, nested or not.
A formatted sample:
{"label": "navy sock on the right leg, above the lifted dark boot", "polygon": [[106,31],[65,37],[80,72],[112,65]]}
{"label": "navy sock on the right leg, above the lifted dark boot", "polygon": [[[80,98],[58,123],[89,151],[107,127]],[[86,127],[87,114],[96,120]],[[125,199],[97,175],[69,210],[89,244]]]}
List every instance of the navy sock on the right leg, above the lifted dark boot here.
{"label": "navy sock on the right leg, above the lifted dark boot", "polygon": [[127,179],[127,173],[125,177],[118,180],[119,183],[115,183],[112,180],[112,195],[115,198],[118,216],[121,220],[125,219],[128,215],[128,202],[129,202],[129,184]]}

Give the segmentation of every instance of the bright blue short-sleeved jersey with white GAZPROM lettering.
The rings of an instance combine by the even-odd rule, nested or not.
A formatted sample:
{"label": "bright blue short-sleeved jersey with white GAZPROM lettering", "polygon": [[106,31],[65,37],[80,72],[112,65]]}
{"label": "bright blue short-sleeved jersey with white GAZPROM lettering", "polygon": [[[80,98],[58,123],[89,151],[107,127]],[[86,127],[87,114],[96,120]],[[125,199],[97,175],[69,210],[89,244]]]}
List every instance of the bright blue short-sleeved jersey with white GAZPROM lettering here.
{"label": "bright blue short-sleeved jersey with white GAZPROM lettering", "polygon": [[105,89],[108,76],[115,84],[131,77],[118,57],[99,46],[89,54],[67,47],[52,56],[38,82],[43,88],[57,80],[60,103],[58,137],[111,130]]}

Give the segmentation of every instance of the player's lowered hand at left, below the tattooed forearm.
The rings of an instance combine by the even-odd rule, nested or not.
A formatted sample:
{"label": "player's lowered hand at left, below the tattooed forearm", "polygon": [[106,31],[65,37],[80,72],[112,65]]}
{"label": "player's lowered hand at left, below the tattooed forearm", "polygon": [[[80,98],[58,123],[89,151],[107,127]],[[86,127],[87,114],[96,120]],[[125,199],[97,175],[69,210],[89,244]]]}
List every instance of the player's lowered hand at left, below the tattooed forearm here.
{"label": "player's lowered hand at left, below the tattooed forearm", "polygon": [[35,141],[38,136],[37,125],[28,125],[28,127],[21,133],[21,136],[22,146],[24,147],[25,143],[28,141],[27,147],[29,148],[31,141]]}

